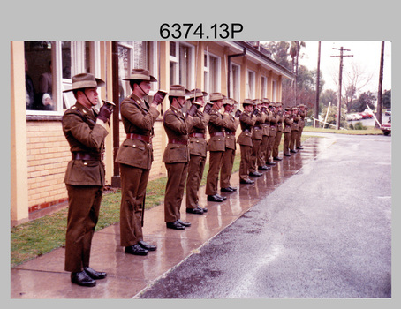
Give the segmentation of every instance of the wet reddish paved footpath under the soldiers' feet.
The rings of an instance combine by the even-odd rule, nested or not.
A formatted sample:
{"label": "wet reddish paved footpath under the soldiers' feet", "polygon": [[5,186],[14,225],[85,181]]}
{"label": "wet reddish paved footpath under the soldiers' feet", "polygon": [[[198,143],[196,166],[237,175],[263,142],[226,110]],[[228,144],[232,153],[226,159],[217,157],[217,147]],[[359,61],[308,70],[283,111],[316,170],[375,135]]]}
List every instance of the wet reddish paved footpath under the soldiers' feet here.
{"label": "wet reddish paved footpath under the soldiers' feet", "polygon": [[[181,219],[191,222],[185,230],[166,229],[163,205],[147,211],[143,229],[145,241],[157,245],[146,257],[125,254],[119,245],[119,224],[95,233],[91,253],[91,267],[106,271],[108,276],[98,280],[94,288],[79,287],[64,271],[64,248],[42,255],[11,269],[11,298],[134,298],[157,278],[174,268],[182,260],[200,250],[224,228],[244,215],[261,199],[282,185],[288,177],[307,170],[307,162],[327,149],[334,139],[307,139],[304,149],[291,157],[284,157],[261,177],[252,177],[252,185],[240,185],[238,172],[231,177],[237,192],[222,193],[227,200],[217,203],[207,200],[205,187],[200,188],[200,206],[208,207],[205,215],[185,213]],[[184,198],[185,201],[185,198]]]}

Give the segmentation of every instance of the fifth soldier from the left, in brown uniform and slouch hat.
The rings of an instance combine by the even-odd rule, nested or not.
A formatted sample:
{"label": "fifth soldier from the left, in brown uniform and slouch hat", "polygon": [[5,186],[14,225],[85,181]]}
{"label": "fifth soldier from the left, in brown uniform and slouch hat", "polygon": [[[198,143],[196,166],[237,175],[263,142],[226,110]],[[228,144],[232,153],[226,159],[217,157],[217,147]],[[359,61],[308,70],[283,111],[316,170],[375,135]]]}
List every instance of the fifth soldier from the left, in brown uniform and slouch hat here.
{"label": "fifth soldier from the left, in brown uniform and slouch hat", "polygon": [[210,94],[210,102],[213,104],[210,109],[210,119],[208,121],[208,139],[207,150],[209,152],[208,176],[206,178],[206,190],[208,201],[222,202],[226,197],[217,193],[218,175],[222,165],[223,154],[225,151],[224,132],[226,121],[220,113],[223,107],[223,94]]}

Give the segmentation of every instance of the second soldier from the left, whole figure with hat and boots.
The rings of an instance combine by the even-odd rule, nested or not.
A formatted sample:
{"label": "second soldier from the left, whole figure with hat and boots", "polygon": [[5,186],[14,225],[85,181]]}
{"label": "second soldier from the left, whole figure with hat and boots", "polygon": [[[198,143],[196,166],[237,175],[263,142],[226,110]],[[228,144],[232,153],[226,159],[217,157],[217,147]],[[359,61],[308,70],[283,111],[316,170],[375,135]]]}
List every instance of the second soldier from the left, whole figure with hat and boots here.
{"label": "second soldier from the left, whole figure with hat and boots", "polygon": [[155,251],[155,245],[143,241],[142,223],[148,177],[153,162],[153,126],[159,116],[157,106],[163,101],[160,93],[155,94],[152,103],[145,97],[149,94],[150,83],[157,81],[148,70],[132,69],[129,80],[132,94],[121,102],[121,120],[126,139],[118,149],[116,162],[120,166],[121,206],[120,245],[125,253],[147,255]]}

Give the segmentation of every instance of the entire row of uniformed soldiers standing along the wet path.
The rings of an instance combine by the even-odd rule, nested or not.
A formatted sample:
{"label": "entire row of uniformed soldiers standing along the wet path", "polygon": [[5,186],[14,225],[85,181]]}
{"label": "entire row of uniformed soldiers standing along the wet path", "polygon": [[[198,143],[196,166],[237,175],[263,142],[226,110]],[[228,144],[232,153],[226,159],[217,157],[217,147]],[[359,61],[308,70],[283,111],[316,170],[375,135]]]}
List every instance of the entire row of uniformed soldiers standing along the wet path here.
{"label": "entire row of uniformed soldiers standing along the wet path", "polygon": [[[158,106],[167,92],[158,91],[152,102],[147,102],[151,83],[157,81],[148,70],[133,69],[124,80],[129,81],[132,94],[120,104],[126,134],[116,156],[122,192],[120,245],[127,254],[147,255],[156,250],[156,245],[143,240],[142,233],[146,188],[154,159],[152,138],[155,120],[160,115]],[[89,73],[73,76],[72,88],[65,92],[72,91],[76,103],[65,111],[62,121],[72,152],[64,177],[69,199],[64,269],[71,272],[72,283],[89,287],[107,276],[89,267],[105,185],[104,138],[109,133],[113,112],[111,102],[105,102],[98,112],[94,109],[98,104],[97,87],[104,86],[102,79],[95,79]],[[218,194],[219,177],[221,192],[237,190],[230,182],[237,143],[241,151],[241,184],[253,183],[249,176],[261,176],[258,170],[269,170],[274,160],[282,160],[278,157],[278,145],[283,132],[284,155],[301,148],[304,106],[282,111],[280,103],[246,99],[244,110],[237,109],[234,113],[237,102],[221,93],[213,93],[206,103],[207,95],[200,89],[188,91],[181,85],[171,85],[168,92],[170,109],[163,115],[163,128],[168,137],[163,153],[167,170],[164,221],[168,229],[185,230],[191,226],[190,222],[182,221],[180,215],[185,188],[186,212],[194,215],[208,212],[206,207],[200,207],[198,196],[207,153],[208,201],[222,202],[226,197]],[[236,140],[239,124],[242,132]]]}

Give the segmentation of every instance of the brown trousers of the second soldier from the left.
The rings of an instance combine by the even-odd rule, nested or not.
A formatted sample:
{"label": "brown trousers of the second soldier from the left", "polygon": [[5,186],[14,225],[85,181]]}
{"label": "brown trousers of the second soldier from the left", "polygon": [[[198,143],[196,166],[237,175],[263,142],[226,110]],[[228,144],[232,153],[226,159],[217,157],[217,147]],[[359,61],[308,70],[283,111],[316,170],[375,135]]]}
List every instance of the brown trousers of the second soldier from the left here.
{"label": "brown trousers of the second soldier from the left", "polygon": [[141,219],[150,170],[120,164],[121,205],[120,245],[136,245],[143,240]]}

